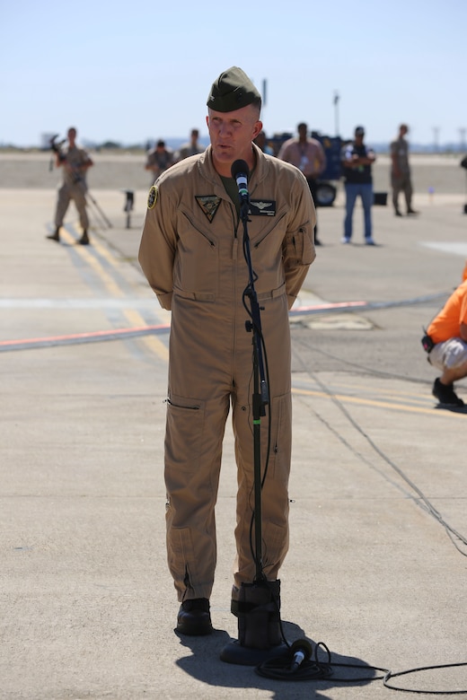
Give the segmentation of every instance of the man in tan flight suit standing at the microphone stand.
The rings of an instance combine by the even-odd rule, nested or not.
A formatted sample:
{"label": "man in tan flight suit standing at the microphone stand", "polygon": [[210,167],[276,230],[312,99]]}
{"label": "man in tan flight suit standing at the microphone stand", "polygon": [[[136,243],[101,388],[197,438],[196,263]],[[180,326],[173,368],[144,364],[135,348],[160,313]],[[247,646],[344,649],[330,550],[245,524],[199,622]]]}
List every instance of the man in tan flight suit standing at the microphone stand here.
{"label": "man in tan flight suit standing at the microphone stand", "polygon": [[[269,354],[268,416],[261,425],[263,573],[278,600],[288,547],[291,454],[288,310],[315,257],[315,212],[304,175],[252,144],[260,133],[260,93],[240,68],[209,92],[211,144],[161,175],[150,189],[139,261],[164,309],[172,311],[165,436],[167,550],[182,634],[212,631],[216,568],[215,505],[225,422],[232,407],[238,468],[233,612],[249,605],[255,579],[251,333],[243,292],[249,271],[233,162],[247,162],[248,232],[262,335]],[[269,595],[269,591],[267,591]],[[246,600],[244,600],[246,597]],[[272,613],[271,613],[272,614]],[[279,643],[275,627],[273,644]],[[241,636],[241,643],[244,639]],[[252,645],[256,643],[253,642]],[[269,648],[269,640],[266,647]],[[248,646],[249,643],[246,643]]]}

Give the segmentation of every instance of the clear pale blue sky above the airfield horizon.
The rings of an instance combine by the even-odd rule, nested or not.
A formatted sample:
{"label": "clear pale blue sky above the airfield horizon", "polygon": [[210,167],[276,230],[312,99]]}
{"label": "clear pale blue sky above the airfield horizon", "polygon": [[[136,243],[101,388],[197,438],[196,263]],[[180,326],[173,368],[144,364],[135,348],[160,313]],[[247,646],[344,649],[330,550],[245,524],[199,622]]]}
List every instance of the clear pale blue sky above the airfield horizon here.
{"label": "clear pale blue sky above the airfield horizon", "polygon": [[72,125],[97,143],[206,136],[207,93],[229,66],[267,82],[269,135],[363,124],[380,143],[405,121],[414,143],[458,144],[466,27],[466,0],[2,0],[0,144]]}

